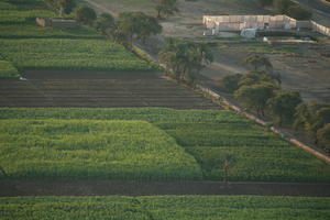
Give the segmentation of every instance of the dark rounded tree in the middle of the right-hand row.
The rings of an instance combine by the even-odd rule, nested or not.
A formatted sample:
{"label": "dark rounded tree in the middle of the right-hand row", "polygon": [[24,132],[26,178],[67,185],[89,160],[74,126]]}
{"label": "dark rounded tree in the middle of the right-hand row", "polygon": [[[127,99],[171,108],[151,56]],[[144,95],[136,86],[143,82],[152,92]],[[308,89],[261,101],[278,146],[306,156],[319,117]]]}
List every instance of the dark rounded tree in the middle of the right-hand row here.
{"label": "dark rounded tree in the middle of the right-hand row", "polygon": [[270,111],[276,117],[277,122],[293,123],[296,107],[301,103],[301,97],[297,91],[278,90],[275,96],[267,101]]}

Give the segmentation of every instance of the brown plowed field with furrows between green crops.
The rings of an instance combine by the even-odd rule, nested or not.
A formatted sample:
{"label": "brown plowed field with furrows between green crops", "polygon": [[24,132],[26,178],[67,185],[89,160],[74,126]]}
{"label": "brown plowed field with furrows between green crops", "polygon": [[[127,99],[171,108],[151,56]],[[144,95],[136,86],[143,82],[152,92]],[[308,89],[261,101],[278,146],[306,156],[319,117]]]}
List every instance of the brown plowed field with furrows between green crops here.
{"label": "brown plowed field with furrows between green crops", "polygon": [[201,94],[153,73],[31,72],[0,80],[0,107],[219,109]]}

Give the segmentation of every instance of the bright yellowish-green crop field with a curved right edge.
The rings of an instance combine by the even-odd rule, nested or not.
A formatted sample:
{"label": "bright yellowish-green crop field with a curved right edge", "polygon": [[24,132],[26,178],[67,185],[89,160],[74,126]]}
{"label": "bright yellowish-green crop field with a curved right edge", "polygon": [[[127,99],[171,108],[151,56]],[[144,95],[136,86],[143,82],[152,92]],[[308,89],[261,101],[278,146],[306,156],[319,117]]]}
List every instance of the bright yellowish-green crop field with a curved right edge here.
{"label": "bright yellowish-green crop field with a curved right edge", "polygon": [[201,169],[164,131],[143,121],[2,120],[8,176],[200,179]]}

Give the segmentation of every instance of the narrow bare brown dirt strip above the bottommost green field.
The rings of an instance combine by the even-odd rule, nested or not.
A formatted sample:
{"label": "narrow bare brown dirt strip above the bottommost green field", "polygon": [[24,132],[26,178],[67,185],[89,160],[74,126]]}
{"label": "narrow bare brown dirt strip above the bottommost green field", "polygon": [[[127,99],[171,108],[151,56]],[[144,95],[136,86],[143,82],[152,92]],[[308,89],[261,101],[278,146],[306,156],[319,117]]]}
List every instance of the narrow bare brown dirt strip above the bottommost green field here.
{"label": "narrow bare brown dirt strip above the bottommost green field", "polygon": [[258,195],[329,197],[330,184],[120,180],[0,180],[0,197],[13,196]]}

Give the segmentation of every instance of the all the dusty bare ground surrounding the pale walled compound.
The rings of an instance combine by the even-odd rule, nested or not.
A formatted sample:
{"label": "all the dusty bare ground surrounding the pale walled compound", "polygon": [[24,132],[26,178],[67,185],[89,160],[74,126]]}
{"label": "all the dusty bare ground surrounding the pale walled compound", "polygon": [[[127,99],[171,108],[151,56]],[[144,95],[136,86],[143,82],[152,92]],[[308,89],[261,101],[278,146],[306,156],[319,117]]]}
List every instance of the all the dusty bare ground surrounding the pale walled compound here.
{"label": "all the dusty bare ground surrounding the pale walled compound", "polygon": [[[88,0],[94,2],[98,10],[111,12],[114,15],[122,11],[144,11],[155,14],[152,0]],[[243,2],[243,3],[242,3]],[[323,6],[320,0],[300,0],[306,7],[314,10],[317,21],[330,24],[330,6]],[[242,59],[250,53],[261,53],[271,58],[275,72],[283,78],[283,88],[296,90],[305,100],[330,101],[330,41],[318,44],[292,44],[263,47],[255,42],[242,41],[238,37],[232,40],[205,38],[202,22],[204,14],[268,14],[270,11],[262,9],[249,1],[240,0],[196,0],[179,1],[180,13],[162,22],[164,28],[162,36],[152,37],[144,48],[156,54],[164,42],[164,36],[190,38],[193,41],[220,42],[213,46],[215,62],[202,70],[202,75],[213,81],[229,74],[249,70],[242,65]],[[326,15],[324,15],[326,14]],[[224,34],[227,36],[228,34]],[[224,42],[224,43],[223,43]],[[219,46],[220,45],[220,46]],[[274,51],[275,50],[275,51]],[[292,52],[294,51],[294,52]]]}

